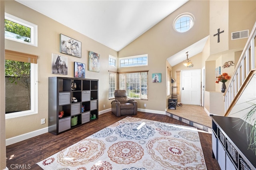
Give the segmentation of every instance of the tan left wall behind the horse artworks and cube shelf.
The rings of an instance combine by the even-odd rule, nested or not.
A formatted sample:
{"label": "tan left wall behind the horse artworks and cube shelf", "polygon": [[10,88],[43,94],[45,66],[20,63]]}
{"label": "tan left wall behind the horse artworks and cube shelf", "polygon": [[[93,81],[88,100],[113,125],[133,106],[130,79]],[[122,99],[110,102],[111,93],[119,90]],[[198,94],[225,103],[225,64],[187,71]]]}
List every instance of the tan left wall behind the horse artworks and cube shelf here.
{"label": "tan left wall behind the horse artworks and cube shelf", "polygon": [[[106,105],[106,108],[110,108],[110,101],[108,100],[108,55],[117,57],[116,51],[18,2],[6,1],[5,12],[38,25],[38,47],[5,40],[6,49],[38,55],[38,114],[7,119],[6,138],[48,127],[48,77],[74,77],[74,61],[85,63],[86,67],[88,67],[88,51],[94,51],[100,54],[100,72],[88,71],[86,69],[86,78],[99,79],[99,111],[103,110],[103,105]],[[81,58],[59,52],[60,34],[70,36],[82,42]],[[68,75],[51,73],[52,53],[68,57]],[[46,124],[44,125],[40,123],[40,119],[42,118],[46,118]]]}

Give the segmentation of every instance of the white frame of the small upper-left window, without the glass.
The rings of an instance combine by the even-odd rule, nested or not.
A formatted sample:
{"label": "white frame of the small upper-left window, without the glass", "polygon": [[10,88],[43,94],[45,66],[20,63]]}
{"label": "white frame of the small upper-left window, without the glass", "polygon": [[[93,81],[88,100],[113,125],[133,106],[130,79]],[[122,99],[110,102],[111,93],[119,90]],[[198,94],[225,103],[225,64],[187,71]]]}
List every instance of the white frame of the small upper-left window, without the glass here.
{"label": "white frame of the small upper-left window, without the glass", "polygon": [[15,38],[6,37],[6,36],[4,36],[4,38],[8,39],[8,40],[12,40],[12,41],[16,41],[16,42],[20,42],[20,43],[24,43],[24,44],[28,44],[28,45],[33,45],[33,46],[37,47],[37,45],[38,45],[38,26],[36,24],[33,24],[31,22],[22,20],[21,18],[18,18],[16,16],[8,14],[6,12],[4,14],[5,14],[4,19],[30,28],[30,42],[24,42],[24,41],[17,40]]}

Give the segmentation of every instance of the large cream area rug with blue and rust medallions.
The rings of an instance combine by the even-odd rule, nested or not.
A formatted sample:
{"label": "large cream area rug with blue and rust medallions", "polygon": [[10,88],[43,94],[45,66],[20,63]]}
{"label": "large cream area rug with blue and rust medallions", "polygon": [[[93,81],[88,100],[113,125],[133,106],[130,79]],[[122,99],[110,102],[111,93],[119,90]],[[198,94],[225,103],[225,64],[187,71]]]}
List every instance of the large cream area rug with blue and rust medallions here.
{"label": "large cream area rug with blue and rust medallions", "polygon": [[44,170],[206,170],[197,128],[134,117],[37,164]]}

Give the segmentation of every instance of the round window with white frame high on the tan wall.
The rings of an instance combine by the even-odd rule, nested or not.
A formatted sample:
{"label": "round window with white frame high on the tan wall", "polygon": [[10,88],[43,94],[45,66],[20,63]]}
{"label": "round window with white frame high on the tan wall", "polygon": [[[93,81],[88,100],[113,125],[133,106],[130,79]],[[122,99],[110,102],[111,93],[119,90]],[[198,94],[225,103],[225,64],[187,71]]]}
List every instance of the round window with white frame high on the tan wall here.
{"label": "round window with white frame high on the tan wall", "polygon": [[194,25],[195,18],[190,13],[180,14],[173,22],[173,28],[177,32],[187,32]]}

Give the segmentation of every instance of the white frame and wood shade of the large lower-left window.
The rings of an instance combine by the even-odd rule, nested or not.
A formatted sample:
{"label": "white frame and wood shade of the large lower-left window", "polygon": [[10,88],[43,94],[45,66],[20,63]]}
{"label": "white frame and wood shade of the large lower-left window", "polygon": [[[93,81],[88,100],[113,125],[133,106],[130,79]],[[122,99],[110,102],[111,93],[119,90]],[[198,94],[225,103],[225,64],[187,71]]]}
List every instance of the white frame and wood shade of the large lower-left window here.
{"label": "white frame and wood shade of the large lower-left window", "polygon": [[[20,53],[16,51],[10,51],[10,50],[5,50],[5,59],[9,60],[24,60],[26,58],[26,62],[30,63],[30,103],[31,103],[31,108],[30,110],[26,111],[20,111],[20,112],[14,112],[14,113],[8,113],[5,114],[5,119],[12,119],[16,117],[23,117],[27,115],[34,115],[38,113],[38,64],[37,64],[37,56],[36,55],[31,55],[31,54],[26,54],[26,53]],[[15,59],[18,58],[18,59]],[[24,62],[24,61],[21,61]]]}

